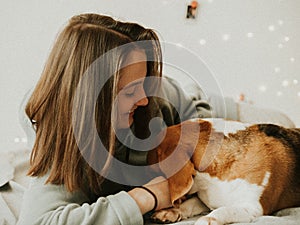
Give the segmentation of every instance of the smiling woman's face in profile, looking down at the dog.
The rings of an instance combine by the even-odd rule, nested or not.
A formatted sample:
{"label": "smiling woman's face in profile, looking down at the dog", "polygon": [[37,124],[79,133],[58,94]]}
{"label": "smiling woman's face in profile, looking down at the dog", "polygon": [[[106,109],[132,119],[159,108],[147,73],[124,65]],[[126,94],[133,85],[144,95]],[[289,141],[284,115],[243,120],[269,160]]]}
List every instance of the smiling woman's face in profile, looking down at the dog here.
{"label": "smiling woman's face in profile, looking down at the dog", "polygon": [[147,58],[143,51],[133,51],[125,60],[120,70],[118,83],[116,128],[129,128],[133,123],[134,111],[139,106],[146,106],[148,98],[144,90],[144,80],[147,74]]}

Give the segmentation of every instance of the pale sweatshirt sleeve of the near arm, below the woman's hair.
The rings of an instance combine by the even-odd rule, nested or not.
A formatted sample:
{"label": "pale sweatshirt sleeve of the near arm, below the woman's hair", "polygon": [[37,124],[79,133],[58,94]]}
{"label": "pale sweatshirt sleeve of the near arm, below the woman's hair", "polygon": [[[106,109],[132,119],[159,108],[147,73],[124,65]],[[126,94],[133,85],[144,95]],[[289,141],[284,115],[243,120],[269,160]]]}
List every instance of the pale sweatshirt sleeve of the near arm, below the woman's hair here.
{"label": "pale sweatshirt sleeve of the near arm, below the woman's hair", "polygon": [[23,197],[17,225],[142,225],[138,205],[127,192],[100,197],[88,204],[82,192],[69,193],[62,185],[33,178]]}

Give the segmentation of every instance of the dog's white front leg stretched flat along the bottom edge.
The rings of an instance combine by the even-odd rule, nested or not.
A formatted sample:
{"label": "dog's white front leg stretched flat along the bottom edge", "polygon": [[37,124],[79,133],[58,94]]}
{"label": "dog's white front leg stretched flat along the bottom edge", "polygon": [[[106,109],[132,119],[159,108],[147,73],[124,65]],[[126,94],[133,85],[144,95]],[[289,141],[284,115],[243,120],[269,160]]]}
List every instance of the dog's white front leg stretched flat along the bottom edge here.
{"label": "dog's white front leg stretched flat along the bottom edge", "polygon": [[195,225],[223,225],[228,223],[249,223],[263,215],[260,204],[242,204],[220,207],[199,218]]}

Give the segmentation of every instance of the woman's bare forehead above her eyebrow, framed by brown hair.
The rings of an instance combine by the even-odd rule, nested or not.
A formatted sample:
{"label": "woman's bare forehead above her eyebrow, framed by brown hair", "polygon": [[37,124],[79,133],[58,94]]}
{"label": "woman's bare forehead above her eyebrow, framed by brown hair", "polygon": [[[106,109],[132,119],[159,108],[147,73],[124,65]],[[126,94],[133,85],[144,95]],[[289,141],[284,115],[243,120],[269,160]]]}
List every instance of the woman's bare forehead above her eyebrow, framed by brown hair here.
{"label": "woman's bare forehead above her eyebrow, framed by brown hair", "polygon": [[141,80],[147,74],[147,57],[144,51],[135,50],[129,53],[124,60],[120,70],[119,89],[124,88],[126,85]]}

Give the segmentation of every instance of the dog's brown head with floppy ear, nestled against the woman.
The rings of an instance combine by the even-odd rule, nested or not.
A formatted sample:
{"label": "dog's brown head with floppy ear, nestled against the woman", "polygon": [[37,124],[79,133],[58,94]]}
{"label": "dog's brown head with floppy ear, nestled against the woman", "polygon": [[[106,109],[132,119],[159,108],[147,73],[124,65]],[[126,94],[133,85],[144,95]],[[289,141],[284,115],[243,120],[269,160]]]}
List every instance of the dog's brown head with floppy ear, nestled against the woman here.
{"label": "dog's brown head with floppy ear, nestled against the woman", "polygon": [[200,165],[211,127],[204,120],[185,121],[168,127],[164,140],[149,154],[150,164],[158,162],[160,170],[168,177],[173,205],[193,185],[195,168]]}

